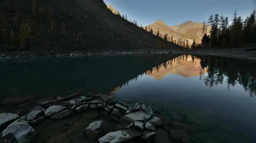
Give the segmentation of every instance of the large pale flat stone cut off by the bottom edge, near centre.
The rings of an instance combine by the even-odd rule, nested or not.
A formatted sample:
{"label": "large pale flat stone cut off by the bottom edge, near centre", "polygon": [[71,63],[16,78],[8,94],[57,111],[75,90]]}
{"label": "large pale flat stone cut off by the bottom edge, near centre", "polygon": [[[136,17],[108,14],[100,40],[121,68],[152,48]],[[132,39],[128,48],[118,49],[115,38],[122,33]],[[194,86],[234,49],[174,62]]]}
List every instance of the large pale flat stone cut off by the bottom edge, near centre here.
{"label": "large pale flat stone cut off by the bottom edge, near centre", "polygon": [[130,141],[138,136],[141,136],[142,132],[135,129],[119,130],[116,132],[109,132],[105,136],[98,139],[99,143],[123,143]]}

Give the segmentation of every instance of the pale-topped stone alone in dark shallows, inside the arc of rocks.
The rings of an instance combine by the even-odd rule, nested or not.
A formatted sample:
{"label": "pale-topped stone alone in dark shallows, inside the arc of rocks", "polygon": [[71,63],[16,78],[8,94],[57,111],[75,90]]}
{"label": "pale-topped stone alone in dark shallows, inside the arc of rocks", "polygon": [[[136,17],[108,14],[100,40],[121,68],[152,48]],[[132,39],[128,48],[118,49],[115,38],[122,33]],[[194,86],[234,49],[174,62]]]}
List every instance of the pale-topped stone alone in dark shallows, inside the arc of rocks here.
{"label": "pale-topped stone alone in dark shallows, inside the arc of rocks", "polygon": [[100,138],[100,136],[103,135],[103,130],[101,129],[102,124],[103,121],[94,121],[90,123],[86,128],[86,137],[91,141],[95,141],[96,139]]}

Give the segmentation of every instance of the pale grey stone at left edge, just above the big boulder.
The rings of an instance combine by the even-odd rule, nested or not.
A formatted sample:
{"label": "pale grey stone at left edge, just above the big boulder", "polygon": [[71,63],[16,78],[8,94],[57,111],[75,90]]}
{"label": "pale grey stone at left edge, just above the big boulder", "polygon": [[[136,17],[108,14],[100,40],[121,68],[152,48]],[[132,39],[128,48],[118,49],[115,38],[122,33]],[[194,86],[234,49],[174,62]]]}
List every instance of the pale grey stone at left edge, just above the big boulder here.
{"label": "pale grey stone at left edge, just above the big boulder", "polygon": [[18,114],[13,113],[0,113],[0,129],[6,127],[8,124],[12,123],[19,118]]}

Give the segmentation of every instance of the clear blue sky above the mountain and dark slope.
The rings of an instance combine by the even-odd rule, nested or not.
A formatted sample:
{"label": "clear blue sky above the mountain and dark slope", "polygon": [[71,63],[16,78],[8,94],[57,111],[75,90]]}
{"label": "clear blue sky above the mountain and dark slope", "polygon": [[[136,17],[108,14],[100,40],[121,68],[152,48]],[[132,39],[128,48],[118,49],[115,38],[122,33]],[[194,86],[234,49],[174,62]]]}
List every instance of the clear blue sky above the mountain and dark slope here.
{"label": "clear blue sky above the mountain and dark slope", "polygon": [[161,19],[167,25],[178,25],[188,20],[203,22],[210,14],[232,18],[233,11],[245,19],[254,9],[256,0],[104,0],[121,14],[148,25]]}

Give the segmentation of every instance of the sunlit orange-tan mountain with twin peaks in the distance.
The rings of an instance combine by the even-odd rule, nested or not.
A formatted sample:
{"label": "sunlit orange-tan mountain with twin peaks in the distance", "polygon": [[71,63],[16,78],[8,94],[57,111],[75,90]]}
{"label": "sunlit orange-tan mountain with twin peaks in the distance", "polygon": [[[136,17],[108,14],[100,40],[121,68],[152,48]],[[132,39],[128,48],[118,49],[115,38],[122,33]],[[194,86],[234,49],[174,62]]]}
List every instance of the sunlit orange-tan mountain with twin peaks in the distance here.
{"label": "sunlit orange-tan mountain with twin peaks in the distance", "polygon": [[[153,24],[147,25],[151,27],[153,31],[160,31],[161,34],[168,34],[173,36],[174,40],[183,38],[188,40],[189,43],[193,43],[193,40],[197,43],[201,42],[202,39],[202,23],[187,21],[180,25],[170,26],[165,24],[162,20],[156,20]],[[210,29],[210,27],[208,27]]]}

